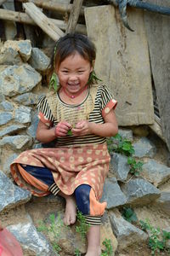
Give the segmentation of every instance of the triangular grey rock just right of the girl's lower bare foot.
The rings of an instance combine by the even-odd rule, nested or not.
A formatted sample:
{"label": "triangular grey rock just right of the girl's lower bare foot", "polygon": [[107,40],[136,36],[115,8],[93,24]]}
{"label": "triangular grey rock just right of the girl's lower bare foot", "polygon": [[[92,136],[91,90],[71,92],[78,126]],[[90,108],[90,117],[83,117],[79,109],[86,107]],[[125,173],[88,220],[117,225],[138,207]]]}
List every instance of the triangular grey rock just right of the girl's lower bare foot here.
{"label": "triangular grey rock just right of the girl's lower bare foot", "polygon": [[118,248],[124,249],[133,243],[138,244],[147,240],[148,235],[143,230],[139,230],[122,218],[121,214],[111,212],[111,227],[118,241]]}

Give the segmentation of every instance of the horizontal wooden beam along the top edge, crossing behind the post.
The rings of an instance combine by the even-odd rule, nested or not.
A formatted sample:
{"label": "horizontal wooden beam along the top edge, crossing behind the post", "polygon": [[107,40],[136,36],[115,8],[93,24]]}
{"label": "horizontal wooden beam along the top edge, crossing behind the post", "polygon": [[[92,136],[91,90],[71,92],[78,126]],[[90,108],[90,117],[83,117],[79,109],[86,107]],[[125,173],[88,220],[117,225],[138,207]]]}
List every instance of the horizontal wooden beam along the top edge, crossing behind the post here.
{"label": "horizontal wooden beam along the top edge, crossing behind the post", "polygon": [[[29,0],[18,0],[19,2],[26,3]],[[72,4],[65,3],[55,3],[54,1],[44,1],[44,0],[31,0],[31,3],[36,4],[38,7],[42,9],[54,10],[59,13],[70,13],[72,9]],[[84,7],[82,7],[80,11],[80,15],[84,15]]]}

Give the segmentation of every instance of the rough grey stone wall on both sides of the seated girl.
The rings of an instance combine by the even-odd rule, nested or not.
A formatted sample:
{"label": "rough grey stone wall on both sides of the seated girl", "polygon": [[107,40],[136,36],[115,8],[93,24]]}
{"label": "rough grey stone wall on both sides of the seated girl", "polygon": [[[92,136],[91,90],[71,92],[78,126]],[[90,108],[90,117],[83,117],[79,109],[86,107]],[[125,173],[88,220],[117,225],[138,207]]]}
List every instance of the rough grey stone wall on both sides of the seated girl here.
{"label": "rough grey stone wall on both sides of the seated girl", "polygon": [[[52,195],[36,198],[17,187],[10,179],[9,164],[27,148],[41,147],[35,138],[37,128],[37,99],[48,91],[42,85],[42,73],[49,59],[29,41],[7,41],[0,52],[0,219],[20,241],[24,255],[54,255],[53,238],[37,232],[39,220],[48,220],[54,213],[64,215],[65,202]],[[105,181],[102,201],[107,209],[101,227],[101,243],[111,239],[114,252],[137,255],[144,250],[148,235],[139,227],[122,218],[122,207],[133,207],[139,219],[150,218],[152,224],[170,227],[170,168],[164,165],[167,148],[159,139],[147,137],[149,131],[120,129],[122,137],[133,142],[134,156],[144,160],[139,177],[129,173],[127,157],[111,154],[110,173]],[[76,248],[85,253],[86,245],[77,236],[76,225],[61,228],[60,255],[74,255]],[[133,247],[134,246],[134,247]],[[133,247],[133,251],[131,250]],[[135,249],[134,249],[135,248]],[[130,253],[129,254],[129,252]],[[133,252],[138,252],[133,254]],[[144,251],[145,254],[150,255]],[[115,253],[113,253],[114,255]],[[56,254],[55,254],[56,255]]]}

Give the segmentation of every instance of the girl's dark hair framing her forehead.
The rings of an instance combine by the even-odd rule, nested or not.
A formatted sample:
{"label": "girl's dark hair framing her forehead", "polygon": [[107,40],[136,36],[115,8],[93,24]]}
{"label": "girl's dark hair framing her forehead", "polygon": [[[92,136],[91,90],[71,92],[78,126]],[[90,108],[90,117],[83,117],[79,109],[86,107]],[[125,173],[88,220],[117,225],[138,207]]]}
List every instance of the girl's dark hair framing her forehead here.
{"label": "girl's dark hair framing her forehead", "polygon": [[95,45],[87,36],[78,33],[69,33],[59,38],[54,47],[51,66],[58,69],[60,63],[66,57],[74,55],[76,52],[94,66],[96,58]]}

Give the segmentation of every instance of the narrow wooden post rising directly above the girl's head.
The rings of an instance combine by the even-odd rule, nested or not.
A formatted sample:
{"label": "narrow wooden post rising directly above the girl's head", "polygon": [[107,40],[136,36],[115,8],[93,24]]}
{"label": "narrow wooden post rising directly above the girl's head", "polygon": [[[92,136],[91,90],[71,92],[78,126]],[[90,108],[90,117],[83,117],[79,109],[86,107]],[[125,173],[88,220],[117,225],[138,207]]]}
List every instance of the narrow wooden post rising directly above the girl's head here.
{"label": "narrow wooden post rising directly above the girl's head", "polygon": [[65,33],[75,32],[83,0],[74,0]]}

